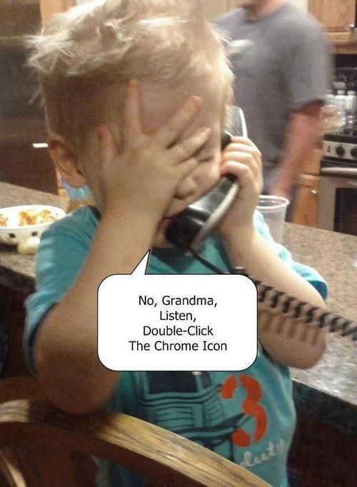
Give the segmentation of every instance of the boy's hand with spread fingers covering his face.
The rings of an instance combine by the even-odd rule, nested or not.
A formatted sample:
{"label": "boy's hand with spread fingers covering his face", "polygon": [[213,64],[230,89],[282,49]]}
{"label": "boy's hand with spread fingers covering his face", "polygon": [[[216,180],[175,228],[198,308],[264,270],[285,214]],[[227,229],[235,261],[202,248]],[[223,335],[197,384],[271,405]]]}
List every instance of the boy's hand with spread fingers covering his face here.
{"label": "boy's hand with spread fingers covering his face", "polygon": [[131,81],[126,90],[120,149],[108,126],[99,128],[102,154],[104,206],[149,211],[161,219],[174,198],[177,186],[198,162],[193,156],[210,134],[196,130],[179,143],[181,135],[198,114],[201,99],[191,96],[171,119],[151,134],[141,129],[139,86]]}

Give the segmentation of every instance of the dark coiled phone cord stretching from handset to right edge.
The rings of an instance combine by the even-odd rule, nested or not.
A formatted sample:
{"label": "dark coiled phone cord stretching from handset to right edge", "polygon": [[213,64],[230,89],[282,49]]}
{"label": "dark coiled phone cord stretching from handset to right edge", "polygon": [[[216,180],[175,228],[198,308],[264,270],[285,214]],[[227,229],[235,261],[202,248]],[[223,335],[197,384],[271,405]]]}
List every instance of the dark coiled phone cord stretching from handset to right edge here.
{"label": "dark coiled phone cord stretching from handset to right edge", "polygon": [[331,333],[341,332],[341,336],[351,336],[353,341],[357,341],[356,321],[348,320],[338,314],[331,313],[318,306],[313,306],[306,301],[301,301],[288,293],[279,291],[273,286],[268,286],[246,273],[243,267],[235,267],[231,269],[231,272],[225,272],[214,266],[211,262],[206,261],[193,248],[185,248],[184,250],[191,252],[197,261],[217,274],[238,274],[250,278],[256,285],[258,291],[258,303],[265,305],[266,311],[272,317],[276,318],[279,314],[282,318],[288,320],[311,323],[318,326],[318,328],[327,328]]}

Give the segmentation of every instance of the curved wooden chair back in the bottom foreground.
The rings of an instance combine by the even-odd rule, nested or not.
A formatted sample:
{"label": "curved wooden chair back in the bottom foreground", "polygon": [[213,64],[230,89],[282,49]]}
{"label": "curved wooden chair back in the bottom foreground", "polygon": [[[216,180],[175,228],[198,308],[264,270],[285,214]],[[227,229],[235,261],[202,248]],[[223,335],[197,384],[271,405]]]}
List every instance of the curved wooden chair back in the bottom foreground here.
{"label": "curved wooden chair back in the bottom foreground", "polygon": [[268,485],[151,423],[108,411],[71,416],[51,406],[33,378],[0,381],[0,471],[9,486],[94,486],[94,470],[83,468],[84,456],[131,468],[146,476],[150,486]]}

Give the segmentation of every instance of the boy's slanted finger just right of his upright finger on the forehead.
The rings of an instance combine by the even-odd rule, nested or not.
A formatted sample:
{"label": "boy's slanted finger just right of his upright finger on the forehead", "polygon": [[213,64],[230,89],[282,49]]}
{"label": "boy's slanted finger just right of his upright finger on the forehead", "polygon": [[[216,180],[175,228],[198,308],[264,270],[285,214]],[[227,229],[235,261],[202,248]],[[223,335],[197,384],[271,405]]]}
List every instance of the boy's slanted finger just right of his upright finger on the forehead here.
{"label": "boy's slanted finger just right of his upright finger on the forehead", "polygon": [[196,116],[201,105],[201,98],[198,96],[191,96],[186,103],[176,111],[176,114],[171,116],[171,119],[169,119],[169,121],[156,132],[154,139],[159,146],[166,149],[171,146],[171,144],[174,144],[194,116]]}

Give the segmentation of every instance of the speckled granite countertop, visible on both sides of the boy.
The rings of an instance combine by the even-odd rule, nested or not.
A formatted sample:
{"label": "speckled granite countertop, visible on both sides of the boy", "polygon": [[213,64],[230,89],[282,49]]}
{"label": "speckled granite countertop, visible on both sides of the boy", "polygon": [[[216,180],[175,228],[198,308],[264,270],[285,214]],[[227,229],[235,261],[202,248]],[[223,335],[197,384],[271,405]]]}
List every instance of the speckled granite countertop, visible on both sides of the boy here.
{"label": "speckled granite countertop, visible on both sides of the boy", "polygon": [[[0,183],[0,208],[18,204],[67,202],[40,191]],[[329,285],[328,310],[357,321],[357,237],[286,224],[283,243],[294,260],[313,266]],[[29,293],[34,289],[34,256],[0,246],[0,284]],[[298,411],[316,416],[348,433],[357,432],[356,342],[329,333],[319,363],[306,371],[292,369]]]}

